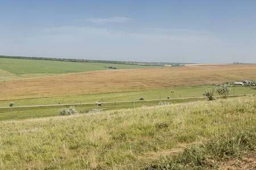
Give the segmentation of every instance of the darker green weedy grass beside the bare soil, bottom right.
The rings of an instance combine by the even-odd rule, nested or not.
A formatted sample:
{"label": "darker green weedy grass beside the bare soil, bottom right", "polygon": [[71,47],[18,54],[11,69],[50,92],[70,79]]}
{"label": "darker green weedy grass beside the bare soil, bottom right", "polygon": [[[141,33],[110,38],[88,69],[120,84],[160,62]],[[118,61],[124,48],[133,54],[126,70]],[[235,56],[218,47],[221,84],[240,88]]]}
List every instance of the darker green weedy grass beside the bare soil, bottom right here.
{"label": "darker green weedy grass beside the bare soil, bottom right", "polygon": [[185,148],[176,156],[160,158],[144,169],[217,169],[225,160],[245,155],[245,151],[256,149],[255,129],[233,131],[214,137],[205,144]]}

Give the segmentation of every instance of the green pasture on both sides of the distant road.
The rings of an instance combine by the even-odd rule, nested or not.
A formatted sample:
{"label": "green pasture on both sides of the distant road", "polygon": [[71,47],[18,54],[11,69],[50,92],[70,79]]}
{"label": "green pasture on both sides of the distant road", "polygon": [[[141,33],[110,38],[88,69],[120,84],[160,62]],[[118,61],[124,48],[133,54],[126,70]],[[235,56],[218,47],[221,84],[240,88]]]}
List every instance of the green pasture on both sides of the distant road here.
{"label": "green pasture on both sides of the distant road", "polygon": [[[197,99],[193,97],[201,97],[204,90],[213,88],[213,85],[207,86],[193,86],[184,88],[172,88],[162,90],[149,90],[149,91],[135,91],[135,92],[120,92],[113,94],[97,94],[97,95],[82,95],[82,96],[68,96],[68,97],[54,97],[54,98],[42,98],[42,99],[26,99],[26,100],[7,100],[0,101],[0,107],[9,107],[10,102],[13,102],[13,119],[27,119],[27,118],[38,118],[38,117],[51,117],[57,116],[58,111],[62,107],[69,107],[68,105],[62,106],[47,106],[47,107],[26,107],[26,108],[15,108],[18,106],[27,105],[53,105],[53,104],[79,104],[81,103],[103,103],[109,101],[133,101],[139,100],[142,96],[144,100],[159,99],[157,101],[136,101],[135,108],[150,107],[158,105],[159,101],[166,101],[169,104],[184,103],[190,101],[205,100],[204,97]],[[174,99],[172,100],[172,91],[174,91]],[[234,93],[235,92],[235,93]],[[232,87],[229,95],[247,95],[255,94],[256,88],[253,87]],[[215,94],[217,95],[217,94]],[[167,99],[170,96],[170,99]],[[177,99],[183,97],[192,97],[192,99]],[[75,105],[76,110],[80,112],[80,105]],[[93,111],[108,111],[114,109],[130,109],[134,108],[133,102],[122,102],[122,103],[103,103],[102,106],[97,104],[82,104],[81,112],[88,113]],[[0,120],[10,120],[10,108],[0,109]]]}

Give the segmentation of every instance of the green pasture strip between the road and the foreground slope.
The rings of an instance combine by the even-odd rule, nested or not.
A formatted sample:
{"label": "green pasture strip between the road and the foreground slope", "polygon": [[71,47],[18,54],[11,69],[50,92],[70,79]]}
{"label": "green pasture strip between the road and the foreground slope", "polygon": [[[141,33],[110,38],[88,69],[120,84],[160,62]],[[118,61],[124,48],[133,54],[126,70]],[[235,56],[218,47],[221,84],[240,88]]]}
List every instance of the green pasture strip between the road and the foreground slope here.
{"label": "green pasture strip between the road and the foreground slope", "polygon": [[[202,101],[204,99],[179,99],[175,100],[174,103],[185,103],[192,101]],[[172,100],[161,100],[162,103],[171,105]],[[77,112],[81,113],[94,113],[104,112],[109,110],[119,109],[133,109],[135,108],[146,108],[159,105],[160,100],[157,101],[135,101],[135,102],[122,102],[122,103],[103,103],[101,106],[97,104],[81,104],[74,105]],[[59,116],[59,109],[69,108],[73,105],[56,105],[56,106],[45,106],[45,107],[26,107],[26,108],[12,108],[13,120],[24,120],[29,118],[42,118]],[[0,121],[11,120],[11,109],[3,108],[0,109]]]}

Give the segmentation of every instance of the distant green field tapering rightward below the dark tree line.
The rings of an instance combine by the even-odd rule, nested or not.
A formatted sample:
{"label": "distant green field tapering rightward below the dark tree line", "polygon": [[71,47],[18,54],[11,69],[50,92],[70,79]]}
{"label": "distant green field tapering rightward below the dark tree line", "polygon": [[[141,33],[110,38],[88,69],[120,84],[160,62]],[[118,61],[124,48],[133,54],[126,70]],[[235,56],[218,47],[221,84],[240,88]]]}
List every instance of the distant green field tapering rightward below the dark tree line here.
{"label": "distant green field tapering rightward below the dark tree line", "polygon": [[117,69],[141,69],[160,67],[143,65],[124,65],[114,63],[80,63],[46,61],[36,59],[0,58],[0,81],[54,76],[67,73],[80,73],[96,70],[110,70],[108,68],[105,68],[105,66],[113,66]]}

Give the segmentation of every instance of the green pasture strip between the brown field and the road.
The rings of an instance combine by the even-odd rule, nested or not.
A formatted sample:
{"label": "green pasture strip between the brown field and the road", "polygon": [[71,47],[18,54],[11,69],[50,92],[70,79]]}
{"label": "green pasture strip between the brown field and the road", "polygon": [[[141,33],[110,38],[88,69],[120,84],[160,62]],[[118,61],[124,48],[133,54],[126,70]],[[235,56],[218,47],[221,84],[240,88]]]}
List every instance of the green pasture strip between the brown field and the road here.
{"label": "green pasture strip between the brown field and the road", "polygon": [[[39,98],[39,99],[23,99],[23,100],[5,100],[0,101],[0,107],[8,107],[10,102],[15,103],[17,106],[26,105],[49,105],[49,104],[77,104],[77,103],[94,103],[94,102],[108,102],[108,101],[131,101],[139,100],[140,97],[144,97],[144,100],[152,99],[170,99],[173,97],[184,98],[184,97],[201,97],[203,91],[208,88],[213,88],[214,85],[205,86],[190,86],[183,88],[170,88],[170,89],[159,89],[159,90],[147,90],[147,91],[133,91],[133,92],[118,92],[110,94],[93,94],[93,95],[81,95],[81,96],[67,96],[67,97],[52,97],[52,98]],[[246,95],[255,94],[256,87],[243,87],[235,86],[231,87],[229,95]],[[172,91],[173,97],[172,97]],[[217,95],[216,93],[214,95]]]}

